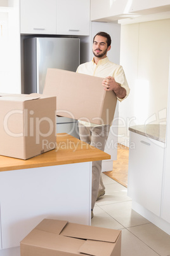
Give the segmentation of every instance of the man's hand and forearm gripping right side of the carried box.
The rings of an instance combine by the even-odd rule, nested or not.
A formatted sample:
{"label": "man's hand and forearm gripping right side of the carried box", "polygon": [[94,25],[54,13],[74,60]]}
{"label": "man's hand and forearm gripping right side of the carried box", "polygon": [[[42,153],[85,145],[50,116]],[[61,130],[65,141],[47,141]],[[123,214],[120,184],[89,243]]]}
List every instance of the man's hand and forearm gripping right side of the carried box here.
{"label": "man's hand and forearm gripping right side of the carried box", "polygon": [[126,96],[126,89],[121,87],[119,83],[115,82],[115,79],[112,76],[107,76],[105,79],[103,79],[102,85],[104,90],[113,90],[115,95],[120,99],[123,99]]}

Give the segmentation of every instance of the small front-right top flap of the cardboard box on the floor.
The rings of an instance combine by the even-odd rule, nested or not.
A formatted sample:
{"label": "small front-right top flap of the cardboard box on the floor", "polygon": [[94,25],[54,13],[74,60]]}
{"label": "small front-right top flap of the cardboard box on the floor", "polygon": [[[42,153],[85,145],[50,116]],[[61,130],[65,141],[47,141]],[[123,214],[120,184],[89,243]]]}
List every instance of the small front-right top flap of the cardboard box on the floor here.
{"label": "small front-right top flap of the cardboard box on the floor", "polygon": [[79,248],[79,252],[93,256],[107,256],[112,255],[114,246],[115,243],[87,240]]}

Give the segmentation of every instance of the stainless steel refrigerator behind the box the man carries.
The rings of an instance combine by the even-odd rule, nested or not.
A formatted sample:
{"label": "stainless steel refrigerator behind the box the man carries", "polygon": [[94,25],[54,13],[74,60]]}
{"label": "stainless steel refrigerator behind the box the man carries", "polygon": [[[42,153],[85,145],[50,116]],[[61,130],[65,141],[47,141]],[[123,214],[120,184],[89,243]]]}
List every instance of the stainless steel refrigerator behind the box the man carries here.
{"label": "stainless steel refrigerator behind the box the man carries", "polygon": [[[79,38],[35,37],[24,39],[24,94],[42,94],[48,68],[76,71],[80,62]],[[73,92],[74,93],[74,92]],[[79,138],[77,120],[57,117],[58,133]]]}

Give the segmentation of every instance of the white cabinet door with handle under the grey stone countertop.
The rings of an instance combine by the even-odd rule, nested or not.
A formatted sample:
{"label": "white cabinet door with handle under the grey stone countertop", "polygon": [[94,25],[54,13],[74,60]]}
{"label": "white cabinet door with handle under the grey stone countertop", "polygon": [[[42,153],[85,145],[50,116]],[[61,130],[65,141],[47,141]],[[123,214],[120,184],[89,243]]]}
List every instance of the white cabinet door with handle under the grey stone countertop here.
{"label": "white cabinet door with handle under the grey stone countertop", "polygon": [[164,143],[130,132],[128,196],[160,217]]}

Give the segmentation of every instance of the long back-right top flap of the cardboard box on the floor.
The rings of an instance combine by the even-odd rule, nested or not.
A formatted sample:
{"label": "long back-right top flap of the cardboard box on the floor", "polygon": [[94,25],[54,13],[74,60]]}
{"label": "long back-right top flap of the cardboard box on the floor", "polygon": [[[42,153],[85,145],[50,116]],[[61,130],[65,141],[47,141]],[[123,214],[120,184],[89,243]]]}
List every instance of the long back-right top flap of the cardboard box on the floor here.
{"label": "long back-right top flap of the cardboard box on the floor", "polygon": [[114,229],[105,229],[102,227],[73,224],[69,222],[60,234],[72,238],[115,243],[120,233],[121,231]]}

